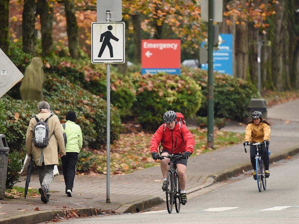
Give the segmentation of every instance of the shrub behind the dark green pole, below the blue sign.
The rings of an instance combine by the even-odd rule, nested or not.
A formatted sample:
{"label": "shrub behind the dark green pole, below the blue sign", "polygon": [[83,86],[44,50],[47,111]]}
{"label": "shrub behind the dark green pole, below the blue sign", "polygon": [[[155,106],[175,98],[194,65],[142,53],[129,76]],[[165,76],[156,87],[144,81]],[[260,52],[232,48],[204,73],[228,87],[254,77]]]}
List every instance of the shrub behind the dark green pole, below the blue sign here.
{"label": "shrub behind the dark green pole, below the blue sign", "polygon": [[[208,77],[207,71],[183,67],[182,74],[194,79],[202,91],[202,106],[197,115],[207,115]],[[214,116],[244,120],[247,118],[247,106],[250,99],[258,98],[259,92],[255,86],[239,78],[214,72]]]}

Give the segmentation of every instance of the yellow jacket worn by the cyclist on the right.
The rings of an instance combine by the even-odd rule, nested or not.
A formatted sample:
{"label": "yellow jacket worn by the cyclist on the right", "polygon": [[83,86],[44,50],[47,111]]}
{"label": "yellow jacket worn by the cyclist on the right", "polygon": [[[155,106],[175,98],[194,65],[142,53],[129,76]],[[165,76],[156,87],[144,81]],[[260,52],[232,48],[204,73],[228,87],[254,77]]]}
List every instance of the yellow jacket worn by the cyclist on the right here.
{"label": "yellow jacket worn by the cyclist on the right", "polygon": [[245,130],[244,142],[263,142],[264,140],[270,140],[270,126],[266,123],[260,122],[258,125],[249,123]]}

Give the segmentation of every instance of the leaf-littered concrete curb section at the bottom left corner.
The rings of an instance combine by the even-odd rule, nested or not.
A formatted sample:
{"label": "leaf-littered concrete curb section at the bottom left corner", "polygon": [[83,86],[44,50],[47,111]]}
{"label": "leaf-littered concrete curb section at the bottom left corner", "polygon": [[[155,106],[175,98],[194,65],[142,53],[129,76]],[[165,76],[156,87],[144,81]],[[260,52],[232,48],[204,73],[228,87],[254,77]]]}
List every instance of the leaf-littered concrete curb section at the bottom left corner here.
{"label": "leaf-littered concrete curb section at the bottom left corner", "polygon": [[57,211],[45,212],[31,212],[26,215],[13,216],[12,218],[5,218],[0,221],[1,224],[24,224],[24,223],[40,223],[51,221],[55,216],[65,217],[67,212],[75,211],[81,217],[104,215],[97,208],[78,208],[78,209],[65,209]]}

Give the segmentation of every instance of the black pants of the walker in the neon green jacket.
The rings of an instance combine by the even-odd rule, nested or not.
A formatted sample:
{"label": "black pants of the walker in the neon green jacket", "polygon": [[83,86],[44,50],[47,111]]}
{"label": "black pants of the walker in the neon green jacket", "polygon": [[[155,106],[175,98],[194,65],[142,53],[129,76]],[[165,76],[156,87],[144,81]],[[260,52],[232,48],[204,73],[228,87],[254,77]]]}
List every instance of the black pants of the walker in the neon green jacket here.
{"label": "black pants of the walker in the neon green jacket", "polygon": [[67,190],[73,192],[78,156],[78,152],[67,152],[65,156],[61,157],[65,193]]}

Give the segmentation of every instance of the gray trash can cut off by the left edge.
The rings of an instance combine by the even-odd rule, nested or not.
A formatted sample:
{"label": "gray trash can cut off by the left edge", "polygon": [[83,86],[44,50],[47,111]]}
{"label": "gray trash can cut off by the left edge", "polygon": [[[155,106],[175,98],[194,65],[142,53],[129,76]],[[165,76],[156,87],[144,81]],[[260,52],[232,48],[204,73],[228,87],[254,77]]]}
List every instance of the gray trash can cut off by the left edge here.
{"label": "gray trash can cut off by the left edge", "polygon": [[5,197],[8,152],[5,135],[0,134],[0,199]]}

